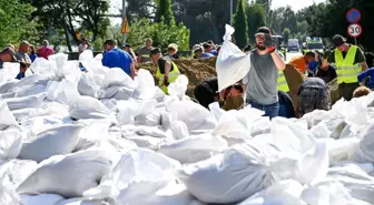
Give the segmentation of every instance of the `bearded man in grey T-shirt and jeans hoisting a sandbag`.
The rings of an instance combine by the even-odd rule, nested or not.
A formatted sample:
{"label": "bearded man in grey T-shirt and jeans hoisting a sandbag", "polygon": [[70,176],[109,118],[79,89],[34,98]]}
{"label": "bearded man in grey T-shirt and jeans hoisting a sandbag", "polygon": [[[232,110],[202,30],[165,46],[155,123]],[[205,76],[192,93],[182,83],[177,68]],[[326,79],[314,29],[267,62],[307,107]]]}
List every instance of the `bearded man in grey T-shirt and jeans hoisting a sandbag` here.
{"label": "bearded man in grey T-shirt and jeans hoisting a sandbag", "polygon": [[256,49],[250,51],[250,70],[243,79],[246,103],[265,112],[270,119],[278,116],[278,70],[286,68],[280,55],[275,51],[270,30],[262,27],[257,30]]}

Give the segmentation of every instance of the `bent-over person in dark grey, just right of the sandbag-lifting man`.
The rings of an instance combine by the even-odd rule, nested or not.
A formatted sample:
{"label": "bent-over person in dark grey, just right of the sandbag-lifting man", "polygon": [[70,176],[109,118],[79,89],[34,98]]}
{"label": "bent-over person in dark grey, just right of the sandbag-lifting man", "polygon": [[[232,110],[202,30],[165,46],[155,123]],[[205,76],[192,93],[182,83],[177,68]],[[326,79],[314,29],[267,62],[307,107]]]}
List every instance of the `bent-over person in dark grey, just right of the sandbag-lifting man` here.
{"label": "bent-over person in dark grey, just right of the sandbag-lifting man", "polygon": [[307,78],[301,85],[297,96],[299,117],[315,110],[329,110],[328,88],[319,78]]}

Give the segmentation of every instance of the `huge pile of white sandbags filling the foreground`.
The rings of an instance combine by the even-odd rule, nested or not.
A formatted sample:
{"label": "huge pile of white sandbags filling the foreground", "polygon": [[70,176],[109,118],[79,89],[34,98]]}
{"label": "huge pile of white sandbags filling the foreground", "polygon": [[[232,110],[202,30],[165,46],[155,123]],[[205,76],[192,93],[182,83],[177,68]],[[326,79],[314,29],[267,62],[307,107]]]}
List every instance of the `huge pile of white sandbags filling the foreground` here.
{"label": "huge pile of white sandbags filling the foreground", "polygon": [[185,75],[165,95],[148,71],[99,58],[82,53],[86,73],[57,54],[1,76],[1,205],[374,204],[374,93],[270,121],[206,110]]}

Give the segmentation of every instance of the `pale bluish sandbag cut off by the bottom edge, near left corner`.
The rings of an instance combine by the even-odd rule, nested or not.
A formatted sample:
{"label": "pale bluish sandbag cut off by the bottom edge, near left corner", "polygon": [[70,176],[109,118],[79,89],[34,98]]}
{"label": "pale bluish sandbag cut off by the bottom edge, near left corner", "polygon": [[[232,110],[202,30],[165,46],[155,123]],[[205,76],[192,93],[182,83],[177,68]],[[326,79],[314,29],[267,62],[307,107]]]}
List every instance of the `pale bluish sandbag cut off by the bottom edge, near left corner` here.
{"label": "pale bluish sandbag cut off by the bottom edge, near left corner", "polygon": [[21,194],[20,199],[22,205],[55,205],[65,198],[57,194],[39,194],[39,195],[27,195]]}

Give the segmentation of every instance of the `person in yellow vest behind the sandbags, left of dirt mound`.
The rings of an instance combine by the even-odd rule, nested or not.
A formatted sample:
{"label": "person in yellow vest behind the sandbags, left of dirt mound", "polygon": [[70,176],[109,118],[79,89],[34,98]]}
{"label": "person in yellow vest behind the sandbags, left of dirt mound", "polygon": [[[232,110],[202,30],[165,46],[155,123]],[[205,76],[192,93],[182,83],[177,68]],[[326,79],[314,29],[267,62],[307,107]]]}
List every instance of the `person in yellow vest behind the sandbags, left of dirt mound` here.
{"label": "person in yellow vest behind the sandbags, left of dirt mound", "polygon": [[158,86],[167,94],[167,86],[180,75],[178,66],[170,59],[163,57],[159,48],[154,48],[150,51],[150,58],[157,66],[156,78]]}

